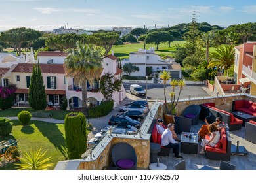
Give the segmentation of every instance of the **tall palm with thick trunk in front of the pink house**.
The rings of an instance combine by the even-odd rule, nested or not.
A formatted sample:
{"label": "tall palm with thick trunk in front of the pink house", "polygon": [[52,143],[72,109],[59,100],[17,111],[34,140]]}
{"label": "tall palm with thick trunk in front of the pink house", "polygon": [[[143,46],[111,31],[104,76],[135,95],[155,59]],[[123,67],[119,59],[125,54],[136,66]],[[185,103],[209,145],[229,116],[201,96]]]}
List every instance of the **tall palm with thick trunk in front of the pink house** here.
{"label": "tall palm with thick trunk in front of the pink house", "polygon": [[74,77],[75,84],[82,85],[82,112],[87,116],[87,80],[93,84],[102,73],[102,58],[93,44],[77,42],[64,62],[66,76]]}

